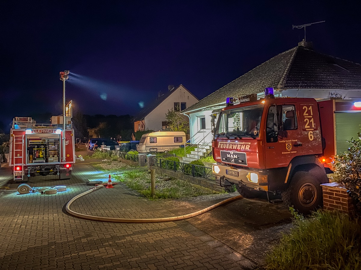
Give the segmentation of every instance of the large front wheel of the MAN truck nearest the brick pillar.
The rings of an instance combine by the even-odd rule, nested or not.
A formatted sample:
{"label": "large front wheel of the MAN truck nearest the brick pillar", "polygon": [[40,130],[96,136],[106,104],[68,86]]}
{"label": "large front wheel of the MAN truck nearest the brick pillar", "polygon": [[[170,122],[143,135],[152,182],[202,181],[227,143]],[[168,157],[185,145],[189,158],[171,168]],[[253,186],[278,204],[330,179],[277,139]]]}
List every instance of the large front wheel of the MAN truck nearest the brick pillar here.
{"label": "large front wheel of the MAN truck nearest the brick pillar", "polygon": [[291,184],[282,192],[282,200],[286,206],[293,206],[297,211],[308,215],[322,207],[321,177],[306,171],[298,171],[292,177]]}

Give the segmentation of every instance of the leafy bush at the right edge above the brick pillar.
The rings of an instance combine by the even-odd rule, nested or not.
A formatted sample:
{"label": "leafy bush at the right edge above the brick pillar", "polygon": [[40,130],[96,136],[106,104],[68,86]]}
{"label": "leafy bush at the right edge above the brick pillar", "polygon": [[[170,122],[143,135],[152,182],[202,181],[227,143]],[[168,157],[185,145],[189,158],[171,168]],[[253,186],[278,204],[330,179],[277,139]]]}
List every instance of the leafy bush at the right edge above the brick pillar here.
{"label": "leafy bush at the right edge above the brick pillar", "polygon": [[341,156],[334,158],[334,178],[350,190],[350,195],[356,204],[356,210],[361,213],[361,135],[348,141],[351,147]]}

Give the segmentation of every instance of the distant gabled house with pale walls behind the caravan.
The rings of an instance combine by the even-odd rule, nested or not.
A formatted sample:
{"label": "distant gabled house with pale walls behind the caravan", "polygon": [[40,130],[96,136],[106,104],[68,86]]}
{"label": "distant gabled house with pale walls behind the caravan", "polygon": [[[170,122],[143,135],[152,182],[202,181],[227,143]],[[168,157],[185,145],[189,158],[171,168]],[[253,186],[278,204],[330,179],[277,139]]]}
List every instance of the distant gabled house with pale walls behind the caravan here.
{"label": "distant gabled house with pale walls behind the caravan", "polygon": [[168,110],[183,111],[199,101],[182,84],[169,86],[165,94],[158,93],[158,98],[151,101],[134,118],[134,132],[138,130],[164,130],[167,127],[165,114]]}

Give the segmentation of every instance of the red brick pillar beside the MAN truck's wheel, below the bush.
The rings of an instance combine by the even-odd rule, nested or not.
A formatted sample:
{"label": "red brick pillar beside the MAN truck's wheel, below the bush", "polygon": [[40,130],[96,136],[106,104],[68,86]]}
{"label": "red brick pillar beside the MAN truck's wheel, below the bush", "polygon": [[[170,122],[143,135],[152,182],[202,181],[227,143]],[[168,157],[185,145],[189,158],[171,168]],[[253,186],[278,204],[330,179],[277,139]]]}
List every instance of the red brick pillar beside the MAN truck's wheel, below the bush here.
{"label": "red brick pillar beside the MAN truck's wheel, below the bush", "polygon": [[339,210],[349,216],[355,216],[355,205],[348,195],[349,191],[339,183],[322,184],[323,208],[326,210]]}

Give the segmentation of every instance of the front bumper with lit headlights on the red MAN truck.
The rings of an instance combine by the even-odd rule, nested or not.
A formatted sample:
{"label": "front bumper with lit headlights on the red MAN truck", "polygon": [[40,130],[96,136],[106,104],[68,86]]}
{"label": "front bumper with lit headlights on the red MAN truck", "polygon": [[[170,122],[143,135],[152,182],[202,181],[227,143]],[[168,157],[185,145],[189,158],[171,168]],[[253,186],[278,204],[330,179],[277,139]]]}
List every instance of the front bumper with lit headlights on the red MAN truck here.
{"label": "front bumper with lit headlights on the red MAN truck", "polygon": [[227,180],[238,185],[246,185],[256,190],[268,191],[267,174],[257,170],[245,170],[231,166],[212,164],[213,175],[219,180]]}

